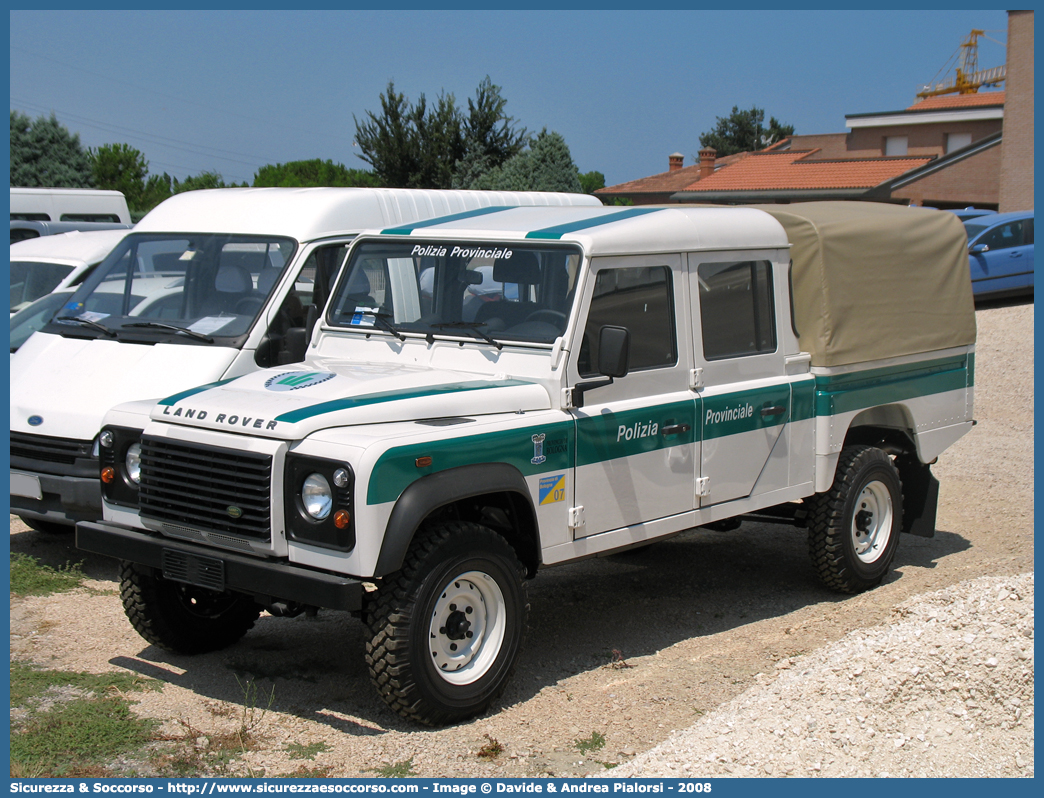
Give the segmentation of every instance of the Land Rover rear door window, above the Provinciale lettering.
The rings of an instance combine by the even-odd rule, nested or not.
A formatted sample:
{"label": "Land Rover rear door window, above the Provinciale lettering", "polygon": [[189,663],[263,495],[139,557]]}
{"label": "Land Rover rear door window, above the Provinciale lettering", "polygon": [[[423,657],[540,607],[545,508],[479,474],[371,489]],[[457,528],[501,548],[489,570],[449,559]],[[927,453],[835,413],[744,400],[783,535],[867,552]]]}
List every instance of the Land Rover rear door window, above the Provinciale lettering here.
{"label": "Land Rover rear door window, above the Provinciale lettering", "polygon": [[708,360],[776,351],[773,272],[767,260],[701,263],[696,274]]}

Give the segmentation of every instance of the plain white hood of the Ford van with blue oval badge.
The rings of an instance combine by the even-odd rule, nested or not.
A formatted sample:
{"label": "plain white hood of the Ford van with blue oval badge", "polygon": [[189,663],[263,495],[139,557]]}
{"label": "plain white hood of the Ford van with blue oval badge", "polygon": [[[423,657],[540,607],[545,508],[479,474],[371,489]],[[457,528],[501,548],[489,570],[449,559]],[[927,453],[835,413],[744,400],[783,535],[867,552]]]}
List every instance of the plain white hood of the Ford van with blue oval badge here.
{"label": "plain white hood of the Ford van with blue oval badge", "polygon": [[220,379],[238,354],[229,347],[144,346],[37,332],[10,358],[10,428],[90,441],[110,407]]}

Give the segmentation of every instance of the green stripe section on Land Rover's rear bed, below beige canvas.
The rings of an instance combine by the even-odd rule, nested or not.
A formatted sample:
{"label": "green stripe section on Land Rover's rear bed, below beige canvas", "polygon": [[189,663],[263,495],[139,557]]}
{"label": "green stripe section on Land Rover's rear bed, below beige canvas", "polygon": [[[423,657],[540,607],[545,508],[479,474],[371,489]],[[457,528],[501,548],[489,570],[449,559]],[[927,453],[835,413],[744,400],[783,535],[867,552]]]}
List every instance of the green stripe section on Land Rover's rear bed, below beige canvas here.
{"label": "green stripe section on Land Rover's rear bed, below beige canvas", "polygon": [[959,391],[973,384],[972,372],[971,356],[957,355],[851,374],[816,375],[815,415],[833,416]]}

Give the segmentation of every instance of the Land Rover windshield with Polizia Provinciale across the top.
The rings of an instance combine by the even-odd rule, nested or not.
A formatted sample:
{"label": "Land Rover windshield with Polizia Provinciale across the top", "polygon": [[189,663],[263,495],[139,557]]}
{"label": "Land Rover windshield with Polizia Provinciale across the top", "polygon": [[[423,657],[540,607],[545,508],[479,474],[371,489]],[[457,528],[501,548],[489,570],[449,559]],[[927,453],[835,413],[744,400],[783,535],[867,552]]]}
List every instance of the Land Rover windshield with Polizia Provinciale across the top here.
{"label": "Land Rover windshield with Polizia Provinciale across the top", "polygon": [[327,320],[337,327],[551,344],[566,330],[580,254],[528,242],[361,242]]}

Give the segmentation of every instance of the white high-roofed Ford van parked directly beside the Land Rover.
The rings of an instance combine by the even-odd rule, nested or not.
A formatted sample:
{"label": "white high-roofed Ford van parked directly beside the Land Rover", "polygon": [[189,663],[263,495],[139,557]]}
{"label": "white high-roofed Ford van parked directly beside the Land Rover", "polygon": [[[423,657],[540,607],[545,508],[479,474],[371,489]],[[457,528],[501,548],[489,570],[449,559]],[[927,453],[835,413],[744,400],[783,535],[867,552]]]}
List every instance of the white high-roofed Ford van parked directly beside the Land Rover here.
{"label": "white high-roofed Ford van parked directly beside the Land Rover", "polygon": [[[359,231],[522,205],[601,204],[363,188],[214,189],[160,204],[11,357],[11,512],[70,532],[101,517],[97,435],[113,405],[304,359]],[[95,309],[100,294],[118,307]]]}

